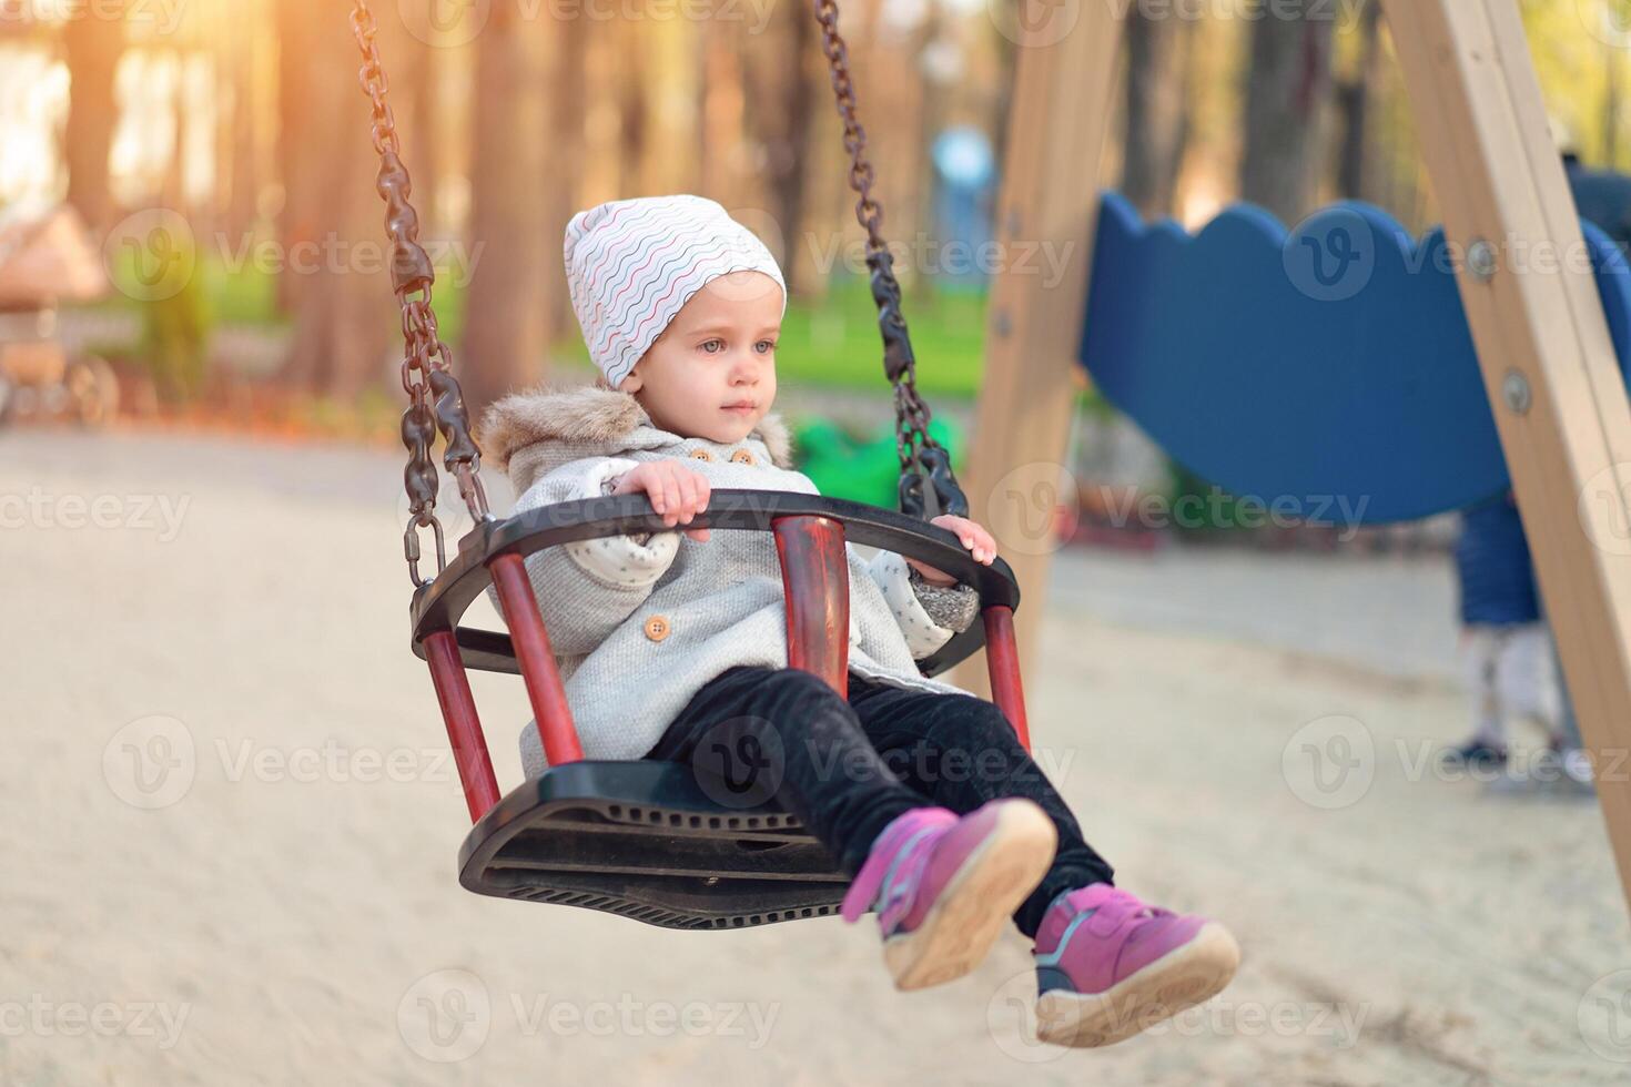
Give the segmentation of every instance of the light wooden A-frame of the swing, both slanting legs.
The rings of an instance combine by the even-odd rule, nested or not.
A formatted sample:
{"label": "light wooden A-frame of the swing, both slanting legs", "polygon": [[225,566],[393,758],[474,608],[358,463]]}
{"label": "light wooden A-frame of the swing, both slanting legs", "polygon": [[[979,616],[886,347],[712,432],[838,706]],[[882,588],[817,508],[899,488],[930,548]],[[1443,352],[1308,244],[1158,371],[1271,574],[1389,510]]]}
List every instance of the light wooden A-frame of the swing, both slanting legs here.
{"label": "light wooden A-frame of the swing, both slanting legs", "polygon": [[[1572,259],[1585,253],[1579,215],[1515,2],[1381,3],[1452,253],[1484,241],[1496,257],[1489,274],[1460,261],[1456,280],[1631,901],[1631,401],[1590,264]],[[1000,544],[1021,538],[1028,510],[995,482],[1068,451],[1124,7],[1085,0],[1068,33],[1044,23],[1018,49],[998,236],[1075,249],[1052,288],[1014,267],[993,284],[969,495]],[[1026,551],[1005,556],[1021,592],[1042,601],[1050,554]],[[1034,629],[1041,611],[1028,608],[1021,627]]]}

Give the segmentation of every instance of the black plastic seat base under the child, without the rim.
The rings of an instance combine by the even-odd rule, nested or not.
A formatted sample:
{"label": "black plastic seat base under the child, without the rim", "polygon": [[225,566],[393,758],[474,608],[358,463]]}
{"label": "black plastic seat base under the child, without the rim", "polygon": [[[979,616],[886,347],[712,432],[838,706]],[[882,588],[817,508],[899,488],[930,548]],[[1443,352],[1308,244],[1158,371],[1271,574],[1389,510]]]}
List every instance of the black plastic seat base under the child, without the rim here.
{"label": "black plastic seat base under the child, without the rim", "polygon": [[[723,807],[682,763],[553,766],[471,826],[458,882],[665,929],[745,929],[838,913],[850,878],[798,818]],[[709,795],[713,794],[713,795]]]}

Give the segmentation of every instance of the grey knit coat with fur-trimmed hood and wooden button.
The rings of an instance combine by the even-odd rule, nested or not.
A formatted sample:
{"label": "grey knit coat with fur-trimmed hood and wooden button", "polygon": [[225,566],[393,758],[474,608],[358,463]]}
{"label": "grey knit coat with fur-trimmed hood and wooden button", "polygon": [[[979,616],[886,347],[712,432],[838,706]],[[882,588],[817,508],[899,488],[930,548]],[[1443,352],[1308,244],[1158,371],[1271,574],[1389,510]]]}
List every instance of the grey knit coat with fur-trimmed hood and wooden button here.
{"label": "grey knit coat with fur-trimmed hood and wooden button", "polygon": [[[723,445],[657,429],[628,393],[541,388],[496,403],[483,450],[509,471],[515,510],[610,494],[641,461],[682,458],[713,489],[819,494],[794,471],[786,425],[768,412]],[[584,539],[527,559],[584,756],[634,759],[708,680],[732,665],[788,667],[775,538],[678,530]],[[850,670],[879,683],[975,698],[917,667],[979,614],[967,585],[935,587],[891,551],[850,546]],[[527,776],[545,769],[537,728],[520,737]]]}

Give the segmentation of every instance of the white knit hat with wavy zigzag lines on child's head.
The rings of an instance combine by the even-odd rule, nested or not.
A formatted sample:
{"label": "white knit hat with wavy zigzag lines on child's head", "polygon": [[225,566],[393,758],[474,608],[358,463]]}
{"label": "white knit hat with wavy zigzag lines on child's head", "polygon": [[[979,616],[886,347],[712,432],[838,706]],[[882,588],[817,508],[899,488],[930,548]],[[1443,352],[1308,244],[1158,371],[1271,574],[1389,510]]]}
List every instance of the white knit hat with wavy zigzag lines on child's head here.
{"label": "white knit hat with wavy zigzag lines on child's head", "polygon": [[[758,238],[700,196],[608,200],[566,225],[566,285],[589,357],[615,388],[703,285],[754,271],[781,287],[781,269]],[[757,288],[754,288],[757,292]]]}

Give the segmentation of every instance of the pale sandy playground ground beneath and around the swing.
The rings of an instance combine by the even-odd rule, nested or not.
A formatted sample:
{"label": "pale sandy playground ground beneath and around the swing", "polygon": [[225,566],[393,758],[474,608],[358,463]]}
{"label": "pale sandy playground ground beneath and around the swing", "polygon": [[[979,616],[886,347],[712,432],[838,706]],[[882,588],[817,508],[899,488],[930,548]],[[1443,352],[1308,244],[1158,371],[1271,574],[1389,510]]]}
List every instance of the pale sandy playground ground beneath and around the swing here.
{"label": "pale sandy playground ground beneath and around the swing", "polygon": [[[1205,1009],[1060,1051],[1026,1041],[1018,934],[902,996],[837,919],[672,934],[458,890],[398,479],[339,448],[0,435],[0,1082],[1631,1077],[1597,807],[1421,768],[1466,717],[1442,562],[1060,557],[1044,766],[1125,887],[1244,947]],[[476,696],[512,784],[519,683]]]}

